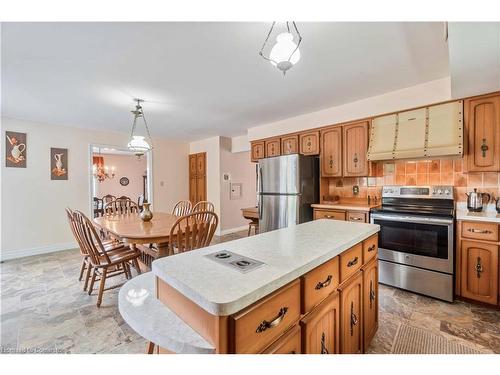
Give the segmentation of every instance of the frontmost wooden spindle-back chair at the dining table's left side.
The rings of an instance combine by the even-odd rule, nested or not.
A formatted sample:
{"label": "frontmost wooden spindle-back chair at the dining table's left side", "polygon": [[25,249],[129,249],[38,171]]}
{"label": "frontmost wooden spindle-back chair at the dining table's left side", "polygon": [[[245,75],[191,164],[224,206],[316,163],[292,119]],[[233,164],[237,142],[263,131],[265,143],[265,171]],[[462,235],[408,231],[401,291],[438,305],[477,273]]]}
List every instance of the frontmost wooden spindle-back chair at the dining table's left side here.
{"label": "frontmost wooden spindle-back chair at the dining table's left side", "polygon": [[106,280],[110,277],[125,275],[127,279],[132,277],[129,262],[133,264],[137,273],[141,273],[139,262],[139,251],[129,246],[122,246],[113,250],[107,250],[102,244],[92,222],[80,211],[73,212],[75,228],[80,236],[84,252],[88,254],[88,261],[91,269],[91,279],[89,285],[89,295],[94,290],[94,284],[99,282],[99,293],[97,296],[97,307],[101,306],[102,296],[105,290],[114,289],[121,285],[113,285],[106,288]]}

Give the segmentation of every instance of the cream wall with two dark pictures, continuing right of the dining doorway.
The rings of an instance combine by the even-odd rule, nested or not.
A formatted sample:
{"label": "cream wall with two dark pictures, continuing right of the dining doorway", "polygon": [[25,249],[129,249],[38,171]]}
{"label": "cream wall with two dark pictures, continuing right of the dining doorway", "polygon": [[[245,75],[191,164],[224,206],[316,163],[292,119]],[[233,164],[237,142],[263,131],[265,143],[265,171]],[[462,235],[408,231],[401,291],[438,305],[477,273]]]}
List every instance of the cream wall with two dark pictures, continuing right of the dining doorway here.
{"label": "cream wall with two dark pictures, continuing right of the dining doorway", "polygon": [[[65,207],[90,215],[90,144],[123,146],[127,133],[100,132],[2,118],[2,259],[75,247]],[[27,133],[27,168],[6,168],[5,130]],[[187,143],[155,138],[153,209],[188,198]],[[50,180],[50,148],[68,149],[67,181]]]}

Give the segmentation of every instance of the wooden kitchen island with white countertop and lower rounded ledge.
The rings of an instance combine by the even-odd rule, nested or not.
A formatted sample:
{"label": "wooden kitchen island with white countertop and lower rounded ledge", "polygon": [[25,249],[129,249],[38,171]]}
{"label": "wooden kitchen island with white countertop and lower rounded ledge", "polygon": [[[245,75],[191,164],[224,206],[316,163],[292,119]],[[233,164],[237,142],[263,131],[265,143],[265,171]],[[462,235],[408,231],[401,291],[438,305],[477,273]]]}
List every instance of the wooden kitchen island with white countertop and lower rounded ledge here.
{"label": "wooden kitchen island with white countertop and lower rounded ledge", "polygon": [[316,220],[158,259],[154,287],[131,280],[120,312],[160,353],[362,353],[378,327],[378,231]]}

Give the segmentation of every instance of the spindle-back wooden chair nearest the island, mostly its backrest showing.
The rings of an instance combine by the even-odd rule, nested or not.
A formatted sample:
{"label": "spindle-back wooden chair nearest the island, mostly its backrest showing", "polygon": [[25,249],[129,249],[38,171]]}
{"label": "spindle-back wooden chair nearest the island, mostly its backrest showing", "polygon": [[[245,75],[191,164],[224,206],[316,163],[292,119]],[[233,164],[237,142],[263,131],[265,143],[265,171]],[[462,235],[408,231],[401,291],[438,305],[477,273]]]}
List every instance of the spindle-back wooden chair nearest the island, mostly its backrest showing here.
{"label": "spindle-back wooden chair nearest the island, mostly its backrest showing", "polygon": [[211,211],[199,211],[180,217],[170,229],[169,255],[210,245],[218,223],[218,216]]}

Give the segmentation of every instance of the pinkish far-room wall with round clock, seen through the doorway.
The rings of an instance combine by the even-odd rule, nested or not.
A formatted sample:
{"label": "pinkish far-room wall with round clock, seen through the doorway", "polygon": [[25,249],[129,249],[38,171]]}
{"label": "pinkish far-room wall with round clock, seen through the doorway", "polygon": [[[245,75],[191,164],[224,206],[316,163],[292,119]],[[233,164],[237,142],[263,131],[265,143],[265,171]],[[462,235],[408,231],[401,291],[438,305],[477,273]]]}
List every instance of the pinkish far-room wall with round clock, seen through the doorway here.
{"label": "pinkish far-room wall with round clock, seen through the doorway", "polygon": [[[102,198],[104,195],[111,194],[115,197],[123,195],[129,197],[134,202],[143,193],[143,177],[147,170],[147,159],[145,156],[140,159],[135,155],[112,155],[112,154],[94,154],[94,156],[102,156],[104,166],[115,167],[115,177],[106,178],[104,181],[95,181],[96,191],[94,196]],[[120,184],[120,178],[127,177],[128,185]],[[146,190],[147,192],[147,190]]]}

